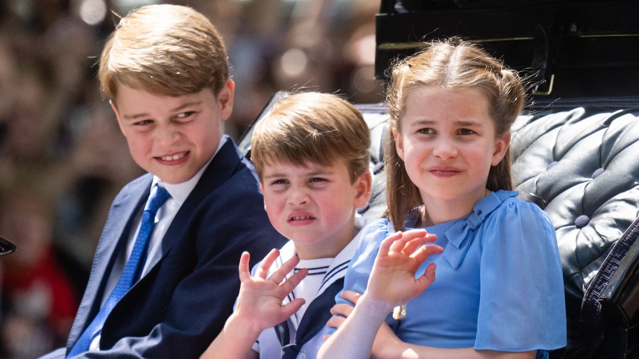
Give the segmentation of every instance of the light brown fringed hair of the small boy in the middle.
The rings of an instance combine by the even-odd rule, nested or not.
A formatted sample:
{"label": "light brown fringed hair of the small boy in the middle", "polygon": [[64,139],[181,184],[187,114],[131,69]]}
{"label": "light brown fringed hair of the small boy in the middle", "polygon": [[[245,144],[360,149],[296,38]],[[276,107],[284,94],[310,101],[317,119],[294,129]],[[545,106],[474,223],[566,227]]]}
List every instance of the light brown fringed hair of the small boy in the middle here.
{"label": "light brown fringed hair of the small boy in the middle", "polygon": [[251,160],[265,165],[344,160],[351,183],[368,170],[371,135],[361,112],[336,95],[297,93],[279,100],[255,126]]}

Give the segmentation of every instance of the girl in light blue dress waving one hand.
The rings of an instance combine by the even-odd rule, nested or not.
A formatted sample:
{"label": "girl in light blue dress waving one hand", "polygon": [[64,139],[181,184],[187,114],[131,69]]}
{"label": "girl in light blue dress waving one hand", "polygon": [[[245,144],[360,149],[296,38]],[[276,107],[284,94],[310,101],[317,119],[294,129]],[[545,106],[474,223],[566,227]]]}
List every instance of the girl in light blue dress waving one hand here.
{"label": "girl in light blue dress waving one hand", "polygon": [[555,229],[512,191],[518,74],[475,45],[437,42],[394,67],[388,102],[387,215],[362,233],[318,357],[544,358],[566,346]]}

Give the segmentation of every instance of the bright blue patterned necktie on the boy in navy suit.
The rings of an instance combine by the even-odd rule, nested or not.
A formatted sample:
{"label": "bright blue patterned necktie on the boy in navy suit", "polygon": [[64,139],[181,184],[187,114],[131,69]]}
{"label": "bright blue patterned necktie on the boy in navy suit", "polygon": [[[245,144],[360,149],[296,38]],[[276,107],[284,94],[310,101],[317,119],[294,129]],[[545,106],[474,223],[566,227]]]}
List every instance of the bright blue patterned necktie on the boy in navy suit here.
{"label": "bright blue patterned necktie on the boy in navy suit", "polygon": [[140,231],[137,234],[137,238],[135,238],[131,256],[128,257],[127,265],[124,267],[118,284],[116,284],[116,287],[109,295],[109,298],[107,298],[100,312],[98,312],[95,318],[93,318],[93,321],[91,321],[91,324],[84,330],[77,342],[75,342],[75,345],[66,358],[71,358],[72,356],[89,350],[91,341],[102,331],[104,321],[109,316],[109,313],[111,313],[113,307],[116,306],[124,294],[127,294],[135,281],[139,279],[142,268],[144,267],[144,260],[141,259],[146,259],[145,254],[149,245],[149,238],[151,238],[151,233],[153,233],[153,227],[155,226],[155,214],[169,197],[171,197],[171,195],[166,189],[159,186],[157,187],[157,191],[151,197],[151,201],[149,201],[146,208],[144,208]]}

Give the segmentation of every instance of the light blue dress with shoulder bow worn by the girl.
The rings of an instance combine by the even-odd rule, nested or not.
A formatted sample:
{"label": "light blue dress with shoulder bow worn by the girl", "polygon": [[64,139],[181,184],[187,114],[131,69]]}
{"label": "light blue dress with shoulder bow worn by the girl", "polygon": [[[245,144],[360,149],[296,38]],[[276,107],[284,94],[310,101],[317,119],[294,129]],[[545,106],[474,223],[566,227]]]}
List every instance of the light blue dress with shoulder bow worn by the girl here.
{"label": "light blue dress with shoulder bow worn by the girl", "polygon": [[[564,284],[555,229],[535,204],[518,192],[493,192],[472,213],[426,227],[441,255],[436,280],[406,305],[401,321],[387,318],[399,339],[438,348],[497,351],[566,346]],[[414,227],[409,215],[406,230]],[[344,289],[363,293],[381,240],[394,232],[385,219],[364,229],[346,272]],[[348,303],[337,295],[338,303]],[[547,356],[539,350],[537,357]]]}

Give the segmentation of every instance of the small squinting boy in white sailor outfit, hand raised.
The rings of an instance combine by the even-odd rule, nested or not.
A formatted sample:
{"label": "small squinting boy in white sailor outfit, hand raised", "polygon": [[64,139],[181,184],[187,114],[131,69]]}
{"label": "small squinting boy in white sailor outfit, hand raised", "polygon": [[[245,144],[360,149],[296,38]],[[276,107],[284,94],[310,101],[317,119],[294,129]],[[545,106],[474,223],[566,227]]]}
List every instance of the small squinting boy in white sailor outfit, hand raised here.
{"label": "small squinting boy in white sailor outfit, hand raised", "polygon": [[251,159],[268,218],[290,241],[253,273],[243,254],[236,310],[203,358],[315,358],[364,226],[355,211],[371,192],[370,146],[362,114],[335,95],[291,95],[259,121]]}

